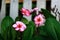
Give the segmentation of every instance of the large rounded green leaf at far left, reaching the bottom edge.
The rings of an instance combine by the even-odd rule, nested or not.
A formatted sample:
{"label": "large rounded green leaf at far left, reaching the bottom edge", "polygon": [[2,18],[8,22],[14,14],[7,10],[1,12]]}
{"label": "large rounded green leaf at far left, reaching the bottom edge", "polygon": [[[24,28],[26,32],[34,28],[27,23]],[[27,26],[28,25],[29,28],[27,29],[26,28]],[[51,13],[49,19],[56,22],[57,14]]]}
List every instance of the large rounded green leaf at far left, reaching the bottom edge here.
{"label": "large rounded green leaf at far left, reaching the bottom edge", "polygon": [[13,19],[10,16],[6,16],[1,23],[1,35],[4,40],[11,39],[11,25],[13,23]]}

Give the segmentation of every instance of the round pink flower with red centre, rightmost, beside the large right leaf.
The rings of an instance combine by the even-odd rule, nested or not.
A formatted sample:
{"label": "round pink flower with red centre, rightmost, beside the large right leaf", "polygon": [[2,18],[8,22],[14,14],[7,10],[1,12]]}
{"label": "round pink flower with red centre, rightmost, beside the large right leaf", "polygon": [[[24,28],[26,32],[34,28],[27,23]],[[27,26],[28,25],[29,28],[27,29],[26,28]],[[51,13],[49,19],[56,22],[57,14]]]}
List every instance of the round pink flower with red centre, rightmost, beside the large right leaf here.
{"label": "round pink flower with red centre, rightmost, beside the large right leaf", "polygon": [[36,27],[44,25],[44,23],[45,23],[45,17],[44,17],[44,15],[42,15],[42,14],[37,15],[34,18],[34,22],[36,24]]}

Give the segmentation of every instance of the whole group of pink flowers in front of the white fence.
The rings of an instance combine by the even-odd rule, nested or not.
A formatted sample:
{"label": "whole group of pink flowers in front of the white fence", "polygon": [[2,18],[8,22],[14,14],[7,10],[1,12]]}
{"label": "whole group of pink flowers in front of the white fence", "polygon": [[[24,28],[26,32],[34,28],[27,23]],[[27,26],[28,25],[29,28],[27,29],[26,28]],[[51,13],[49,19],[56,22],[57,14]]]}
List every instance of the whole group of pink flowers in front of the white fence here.
{"label": "whole group of pink flowers in front of the white fence", "polygon": [[[28,9],[22,8],[21,12],[25,16],[30,16],[31,12],[37,11],[37,10],[38,10],[38,8],[34,8],[31,11]],[[34,23],[36,24],[36,27],[44,25],[44,23],[45,23],[44,15],[39,14],[39,15],[35,16]],[[15,30],[20,31],[20,32],[23,32],[26,29],[26,25],[21,21],[17,21],[16,24],[13,25],[13,27],[15,28]]]}

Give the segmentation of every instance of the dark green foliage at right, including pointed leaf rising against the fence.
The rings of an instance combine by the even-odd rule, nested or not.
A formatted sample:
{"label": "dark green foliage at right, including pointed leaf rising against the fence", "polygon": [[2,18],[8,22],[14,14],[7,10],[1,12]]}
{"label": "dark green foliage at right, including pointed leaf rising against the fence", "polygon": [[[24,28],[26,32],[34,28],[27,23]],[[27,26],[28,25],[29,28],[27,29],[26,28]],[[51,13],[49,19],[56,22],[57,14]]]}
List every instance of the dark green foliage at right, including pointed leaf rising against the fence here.
{"label": "dark green foliage at right, including pointed leaf rising against the fence", "polygon": [[45,26],[43,27],[43,31],[47,33],[49,39],[60,40],[60,23],[57,22],[55,17],[53,17],[51,13],[47,10],[42,9],[42,12],[46,17],[46,22]]}

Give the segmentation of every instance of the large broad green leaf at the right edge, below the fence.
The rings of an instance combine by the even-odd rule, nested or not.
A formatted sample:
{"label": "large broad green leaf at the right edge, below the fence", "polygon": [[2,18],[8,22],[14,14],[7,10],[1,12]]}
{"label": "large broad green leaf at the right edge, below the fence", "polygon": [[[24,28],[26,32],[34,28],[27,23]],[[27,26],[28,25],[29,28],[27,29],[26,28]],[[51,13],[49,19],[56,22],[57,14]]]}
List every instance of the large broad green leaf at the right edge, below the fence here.
{"label": "large broad green leaf at the right edge, below the fence", "polygon": [[45,24],[45,31],[52,40],[60,40],[60,24],[54,18],[48,18]]}

